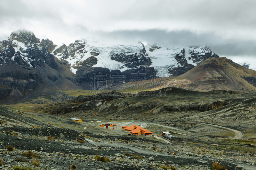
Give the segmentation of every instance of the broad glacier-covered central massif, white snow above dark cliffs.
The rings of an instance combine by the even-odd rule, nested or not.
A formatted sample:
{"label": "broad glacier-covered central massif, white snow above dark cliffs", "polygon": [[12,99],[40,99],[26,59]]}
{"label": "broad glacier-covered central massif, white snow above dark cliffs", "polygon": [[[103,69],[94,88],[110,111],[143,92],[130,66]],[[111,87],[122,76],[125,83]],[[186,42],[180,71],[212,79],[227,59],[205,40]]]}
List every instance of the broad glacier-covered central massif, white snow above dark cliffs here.
{"label": "broad glacier-covered central massif, white snow above dark cliffs", "polygon": [[209,57],[219,57],[207,46],[144,46],[141,42],[137,46],[128,46],[98,44],[84,39],[68,46],[60,44],[53,49],[52,55],[70,63],[74,73],[80,67],[101,67],[121,72],[153,67],[159,77],[178,76]]}

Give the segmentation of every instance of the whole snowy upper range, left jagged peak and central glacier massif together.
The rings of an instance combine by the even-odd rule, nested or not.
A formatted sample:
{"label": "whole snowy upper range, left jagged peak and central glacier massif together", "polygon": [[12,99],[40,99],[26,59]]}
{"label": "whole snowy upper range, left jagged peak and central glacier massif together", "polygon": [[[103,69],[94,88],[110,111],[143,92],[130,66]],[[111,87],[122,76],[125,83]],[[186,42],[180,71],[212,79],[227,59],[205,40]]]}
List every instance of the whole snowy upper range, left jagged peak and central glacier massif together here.
{"label": "whole snowy upper range, left jagged peak and central glacier massif together", "polygon": [[139,42],[137,45],[100,44],[96,41],[76,40],[74,43],[54,45],[52,41],[39,40],[33,32],[18,30],[0,41],[0,64],[9,60],[20,65],[52,68],[54,57],[70,64],[76,73],[83,68],[111,70],[147,70],[153,67],[158,77],[178,76],[209,57],[219,57],[207,46],[165,47]]}

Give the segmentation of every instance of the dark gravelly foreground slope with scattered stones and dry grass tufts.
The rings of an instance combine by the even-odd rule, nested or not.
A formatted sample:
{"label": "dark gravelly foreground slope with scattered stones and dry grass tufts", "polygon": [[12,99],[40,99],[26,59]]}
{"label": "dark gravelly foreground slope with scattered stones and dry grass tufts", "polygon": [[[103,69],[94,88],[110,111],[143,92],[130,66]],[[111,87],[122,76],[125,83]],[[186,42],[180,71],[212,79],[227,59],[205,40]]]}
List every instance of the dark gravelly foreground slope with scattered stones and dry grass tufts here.
{"label": "dark gravelly foreground slope with scattered stones and dry grass tufts", "polygon": [[[68,129],[68,124],[66,128],[57,128],[0,106],[0,159],[3,160],[0,169],[29,166],[33,169],[63,170],[74,164],[77,170],[161,170],[160,166],[170,165],[178,170],[209,170],[212,161],[219,162],[228,170],[256,169],[255,152],[225,150],[210,144],[192,147],[184,142],[166,144],[143,137],[103,136],[94,131]],[[48,136],[55,138],[47,139]],[[7,151],[6,146],[9,145],[15,150]],[[32,166],[31,158],[28,159],[30,162],[15,160],[25,158],[22,153],[28,151],[41,156],[40,167]],[[111,162],[95,160],[97,154],[108,157]]]}

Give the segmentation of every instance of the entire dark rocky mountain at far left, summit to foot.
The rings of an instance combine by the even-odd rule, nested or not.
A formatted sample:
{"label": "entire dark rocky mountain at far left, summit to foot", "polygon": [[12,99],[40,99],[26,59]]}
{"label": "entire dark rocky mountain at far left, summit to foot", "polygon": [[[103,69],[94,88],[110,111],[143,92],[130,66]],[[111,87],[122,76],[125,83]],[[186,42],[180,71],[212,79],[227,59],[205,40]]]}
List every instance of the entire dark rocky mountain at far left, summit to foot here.
{"label": "entire dark rocky mountain at far left, summit to foot", "polygon": [[0,102],[29,100],[58,89],[77,89],[69,64],[51,51],[52,41],[39,40],[26,30],[0,41]]}

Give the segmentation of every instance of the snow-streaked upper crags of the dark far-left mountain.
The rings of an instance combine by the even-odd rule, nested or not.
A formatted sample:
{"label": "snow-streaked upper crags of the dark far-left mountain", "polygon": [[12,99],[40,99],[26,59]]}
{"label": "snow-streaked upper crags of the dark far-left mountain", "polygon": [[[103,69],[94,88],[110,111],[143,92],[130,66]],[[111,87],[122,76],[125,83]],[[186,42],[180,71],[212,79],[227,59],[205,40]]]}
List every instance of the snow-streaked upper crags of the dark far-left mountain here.
{"label": "snow-streaked upper crags of the dark far-left mountain", "polygon": [[48,39],[40,41],[33,32],[18,30],[6,40],[0,41],[0,65],[10,60],[25,67],[44,67],[44,63],[53,69],[58,68],[54,56],[49,51],[54,48]]}

